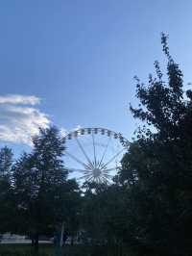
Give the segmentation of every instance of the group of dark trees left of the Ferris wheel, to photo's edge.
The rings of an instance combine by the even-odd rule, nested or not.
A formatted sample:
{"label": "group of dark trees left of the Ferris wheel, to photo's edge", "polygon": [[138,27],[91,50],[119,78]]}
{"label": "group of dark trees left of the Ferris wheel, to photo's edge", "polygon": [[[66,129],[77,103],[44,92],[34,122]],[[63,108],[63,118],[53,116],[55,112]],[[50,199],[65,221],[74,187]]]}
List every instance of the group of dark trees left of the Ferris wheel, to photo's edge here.
{"label": "group of dark trees left of the Ferris wheel, to photo's edge", "polygon": [[40,129],[33,144],[15,162],[11,149],[0,150],[0,233],[28,235],[37,246],[39,235],[53,236],[62,222],[73,231],[81,194],[67,179],[59,130]]}

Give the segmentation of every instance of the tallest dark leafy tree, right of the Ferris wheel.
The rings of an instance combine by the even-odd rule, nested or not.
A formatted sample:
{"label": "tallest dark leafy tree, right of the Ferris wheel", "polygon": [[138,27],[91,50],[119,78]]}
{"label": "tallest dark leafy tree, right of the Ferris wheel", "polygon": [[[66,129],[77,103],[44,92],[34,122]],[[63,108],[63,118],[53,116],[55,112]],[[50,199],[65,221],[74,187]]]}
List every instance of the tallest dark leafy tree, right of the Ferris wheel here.
{"label": "tallest dark leafy tree, right of the Ferris wheel", "polygon": [[167,82],[157,62],[156,78],[150,75],[149,85],[136,78],[140,104],[137,109],[131,106],[131,111],[145,126],[122,160],[119,179],[132,201],[127,218],[142,255],[145,249],[147,255],[190,255],[192,91],[185,95],[182,89],[182,72],[164,34],[161,42],[167,57]]}

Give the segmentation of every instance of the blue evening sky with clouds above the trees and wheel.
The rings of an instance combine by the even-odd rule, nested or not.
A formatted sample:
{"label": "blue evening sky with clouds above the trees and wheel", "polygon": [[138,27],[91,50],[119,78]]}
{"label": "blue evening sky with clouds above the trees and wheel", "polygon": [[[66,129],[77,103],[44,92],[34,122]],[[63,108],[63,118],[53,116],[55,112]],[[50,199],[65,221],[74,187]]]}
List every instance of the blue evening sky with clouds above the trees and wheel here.
{"label": "blue evening sky with clouds above the trees and wheel", "polygon": [[160,33],[192,81],[190,0],[0,2],[0,146],[30,148],[37,127],[105,127],[128,140],[138,125],[137,75],[147,82]]}

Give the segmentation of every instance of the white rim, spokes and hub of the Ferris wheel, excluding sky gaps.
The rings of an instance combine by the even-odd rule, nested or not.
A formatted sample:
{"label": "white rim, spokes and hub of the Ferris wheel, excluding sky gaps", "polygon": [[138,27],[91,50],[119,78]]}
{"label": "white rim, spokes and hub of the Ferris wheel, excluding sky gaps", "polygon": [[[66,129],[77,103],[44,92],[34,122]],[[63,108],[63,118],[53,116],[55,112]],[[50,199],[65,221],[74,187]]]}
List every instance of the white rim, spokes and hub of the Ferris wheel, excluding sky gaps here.
{"label": "white rim, spokes and hub of the Ferris wheel, excluding sky gaps", "polygon": [[[82,141],[79,140],[81,137],[84,138],[84,136],[91,136],[92,137],[92,146],[93,146],[93,158],[89,158],[88,154],[86,154],[86,150],[84,150],[84,144],[82,144]],[[99,159],[96,157],[95,154],[95,135],[102,135],[108,137],[108,143],[105,146],[104,152],[102,152],[102,158]],[[106,152],[108,151],[108,144],[111,143],[113,140],[117,140],[121,143],[122,149],[112,155],[112,157],[108,160],[108,162],[104,161],[104,156],[106,156]],[[82,177],[80,177],[78,180],[85,179],[85,182],[96,182],[96,183],[108,183],[108,180],[111,180],[112,175],[109,173],[112,170],[117,170],[119,166],[112,166],[109,167],[109,164],[115,161],[117,156],[119,156],[123,151],[128,149],[130,142],[122,136],[120,133],[116,133],[112,130],[109,130],[108,128],[102,128],[102,127],[85,127],[85,128],[79,128],[73,131],[68,132],[66,135],[63,136],[64,143],[67,143],[67,141],[76,141],[79,148],[81,149],[82,153],[84,154],[84,158],[86,161],[83,161],[81,158],[79,159],[76,155],[73,155],[70,153],[70,151],[65,150],[65,155],[68,155],[70,158],[72,158],[76,163],[83,166],[78,168],[73,167],[66,167],[66,169],[69,172],[78,171],[82,173]],[[101,175],[100,175],[101,174]]]}

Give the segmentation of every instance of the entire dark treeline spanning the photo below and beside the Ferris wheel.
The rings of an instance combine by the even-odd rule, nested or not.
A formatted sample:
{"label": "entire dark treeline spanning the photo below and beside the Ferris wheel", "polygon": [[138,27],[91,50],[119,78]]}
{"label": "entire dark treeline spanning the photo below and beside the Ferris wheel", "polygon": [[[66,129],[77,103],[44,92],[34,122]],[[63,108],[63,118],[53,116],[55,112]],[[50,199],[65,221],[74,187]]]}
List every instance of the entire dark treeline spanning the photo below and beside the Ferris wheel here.
{"label": "entire dark treeline spanning the photo below and beside the Ferris wheel", "polygon": [[[161,37],[167,72],[136,79],[143,122],[124,155],[113,184],[67,179],[64,144],[54,127],[40,130],[30,154],[12,164],[0,152],[0,232],[53,234],[64,222],[84,243],[112,248],[110,255],[192,255],[192,91],[183,90],[180,66]],[[118,117],[118,116],[117,116]],[[151,128],[152,127],[152,128]],[[109,255],[109,254],[108,254]]]}

